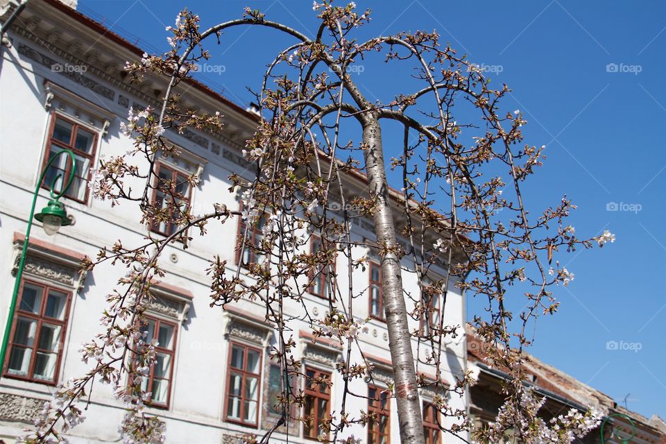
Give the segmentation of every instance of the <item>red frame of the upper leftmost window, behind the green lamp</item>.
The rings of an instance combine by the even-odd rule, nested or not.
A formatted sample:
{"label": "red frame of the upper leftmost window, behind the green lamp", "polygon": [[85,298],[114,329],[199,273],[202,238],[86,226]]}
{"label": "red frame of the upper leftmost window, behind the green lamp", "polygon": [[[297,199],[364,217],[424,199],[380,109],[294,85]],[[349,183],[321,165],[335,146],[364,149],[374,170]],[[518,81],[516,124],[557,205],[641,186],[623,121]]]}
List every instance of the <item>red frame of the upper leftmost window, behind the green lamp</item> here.
{"label": "red frame of the upper leftmost window, behind the green lamp", "polygon": [[[62,142],[62,140],[58,140],[53,137],[53,130],[56,128],[56,120],[61,119],[63,121],[66,121],[67,123],[71,124],[71,135],[69,136],[69,143]],[[93,142],[92,142],[92,147],[90,148],[90,153],[85,153],[84,151],[80,151],[76,149],[76,135],[78,133],[79,128],[83,128],[83,130],[86,130],[89,133],[92,133],[94,135],[93,137]],[[72,153],[79,155],[81,157],[85,157],[89,160],[88,168],[87,171],[84,171],[84,177],[80,176],[74,176],[75,180],[76,178],[80,178],[82,180],[82,187],[85,187],[85,196],[83,199],[76,198],[74,196],[71,196],[69,194],[69,191],[72,191],[71,189],[67,191],[65,194],[65,197],[71,200],[74,200],[79,203],[87,203],[88,202],[88,195],[89,195],[89,188],[88,184],[90,182],[90,169],[94,168],[94,159],[95,159],[95,154],[97,152],[97,142],[99,140],[99,132],[98,130],[94,128],[89,128],[87,126],[83,126],[80,123],[76,123],[76,121],[72,119],[68,119],[67,117],[63,116],[62,114],[58,112],[51,112],[51,122],[49,123],[49,137],[46,139],[46,147],[44,148],[44,162],[42,162],[42,168],[40,171],[44,171],[46,168],[46,164],[49,163],[49,159],[51,158],[51,146],[56,145],[59,148],[62,148],[63,150],[67,149],[70,150]],[[51,164],[51,168],[56,168],[59,171],[62,171],[62,169],[58,168],[56,164]],[[67,159],[65,171],[62,172],[62,178],[60,179],[61,183],[64,180],[67,180],[69,178],[69,174],[71,173],[71,162],[69,162],[69,159]],[[72,182],[74,183],[74,182]],[[46,178],[44,178],[44,183],[41,184],[42,188],[44,189],[51,189],[51,184],[46,183]]]}

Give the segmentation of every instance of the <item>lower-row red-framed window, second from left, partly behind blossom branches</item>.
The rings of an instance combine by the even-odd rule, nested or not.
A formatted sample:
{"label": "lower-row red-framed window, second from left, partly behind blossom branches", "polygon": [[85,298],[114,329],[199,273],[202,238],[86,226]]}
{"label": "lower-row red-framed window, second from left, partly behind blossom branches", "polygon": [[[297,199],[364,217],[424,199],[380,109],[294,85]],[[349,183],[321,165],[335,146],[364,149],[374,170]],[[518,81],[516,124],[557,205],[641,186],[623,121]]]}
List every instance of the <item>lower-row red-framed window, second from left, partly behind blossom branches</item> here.
{"label": "lower-row red-framed window, second from left, partly behind blossom branches", "polygon": [[144,325],[147,343],[155,339],[155,364],[148,376],[144,376],[141,389],[152,393],[151,406],[169,408],[173,359],[176,355],[176,324],[146,317]]}

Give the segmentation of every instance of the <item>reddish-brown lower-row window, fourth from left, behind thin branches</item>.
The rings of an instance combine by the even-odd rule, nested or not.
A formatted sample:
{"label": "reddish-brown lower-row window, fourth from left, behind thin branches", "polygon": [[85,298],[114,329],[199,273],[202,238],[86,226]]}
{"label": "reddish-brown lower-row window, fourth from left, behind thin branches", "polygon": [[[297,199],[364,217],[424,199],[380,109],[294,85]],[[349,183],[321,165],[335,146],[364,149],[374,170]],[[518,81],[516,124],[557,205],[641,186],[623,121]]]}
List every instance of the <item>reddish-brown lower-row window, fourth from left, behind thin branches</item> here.
{"label": "reddish-brown lower-row window, fourth from left, behind thin branches", "polygon": [[317,439],[323,433],[321,425],[329,415],[331,400],[331,374],[305,367],[305,404],[303,407],[303,435]]}

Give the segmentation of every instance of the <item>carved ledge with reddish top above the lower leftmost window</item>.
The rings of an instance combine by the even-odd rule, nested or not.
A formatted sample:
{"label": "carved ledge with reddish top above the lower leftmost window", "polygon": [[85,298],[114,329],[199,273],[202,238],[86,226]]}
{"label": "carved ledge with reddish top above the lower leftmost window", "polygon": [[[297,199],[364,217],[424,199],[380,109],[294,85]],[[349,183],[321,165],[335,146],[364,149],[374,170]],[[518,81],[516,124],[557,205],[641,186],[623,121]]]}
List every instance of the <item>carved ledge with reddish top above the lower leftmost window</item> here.
{"label": "carved ledge with reddish top above the lower leftmost window", "polygon": [[[24,239],[24,234],[14,233],[12,276],[16,276],[19,269]],[[28,245],[23,272],[33,278],[64,285],[79,294],[87,275],[87,271],[80,266],[81,259],[85,257],[87,256],[33,237]]]}

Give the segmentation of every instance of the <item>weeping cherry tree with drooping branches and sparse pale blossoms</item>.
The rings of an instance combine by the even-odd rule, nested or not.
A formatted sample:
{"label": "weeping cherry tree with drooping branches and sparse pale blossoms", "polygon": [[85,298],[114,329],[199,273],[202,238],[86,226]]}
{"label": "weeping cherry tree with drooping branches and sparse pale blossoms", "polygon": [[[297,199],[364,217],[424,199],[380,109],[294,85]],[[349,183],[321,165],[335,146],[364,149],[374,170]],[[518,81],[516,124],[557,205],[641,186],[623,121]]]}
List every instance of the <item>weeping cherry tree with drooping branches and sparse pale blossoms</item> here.
{"label": "weeping cherry tree with drooping branches and sparse pale blossoms", "polygon": [[[300,362],[293,357],[295,345],[289,334],[287,318],[282,311],[287,300],[300,302],[302,293],[313,285],[325,287],[330,311],[323,319],[307,313],[315,338],[327,336],[347,345],[347,359],[337,370],[343,375],[343,401],[335,418],[323,422],[321,440],[337,441],[338,435],[351,423],[367,424],[373,416],[345,410],[345,402],[354,394],[346,382],[364,377],[367,363],[350,362],[350,350],[363,327],[354,318],[353,304],[357,293],[353,287],[341,288],[340,273],[351,275],[355,268],[368,266],[368,258],[355,258],[352,248],[359,245],[350,237],[350,223],[358,216],[370,216],[375,225],[375,242],[364,243],[377,250],[381,259],[382,302],[390,339],[395,397],[400,418],[402,443],[424,443],[420,400],[417,388],[424,382],[417,378],[411,337],[432,346],[429,362],[441,360],[443,341],[455,337],[461,326],[445,323],[443,314],[451,282],[470,293],[488,299],[488,316],[476,316],[477,333],[490,345],[495,363],[511,369],[512,382],[497,421],[487,429],[474,431],[477,441],[499,442],[509,432],[527,443],[570,443],[598,424],[593,412],[572,411],[553,420],[549,427],[538,418],[538,400],[522,384],[522,349],[529,345],[526,329],[540,314],[553,314],[558,302],[552,288],[568,284],[573,275],[555,262],[560,250],[590,248],[592,241],[602,246],[614,237],[604,232],[601,237],[579,239],[566,217],[574,205],[563,198],[532,219],[524,204],[520,187],[543,161],[543,149],[522,144],[521,127],[527,121],[520,112],[502,112],[500,101],[509,92],[506,85],[492,89],[481,71],[458,56],[449,46],[441,46],[436,33],[416,32],[375,37],[358,43],[352,39],[355,28],[369,22],[370,11],[359,14],[355,4],[333,6],[330,2],[314,3],[321,20],[314,40],[289,26],[271,22],[262,12],[246,8],[241,19],[231,20],[205,31],[199,30],[199,17],[184,10],[168,29],[171,49],[162,56],[148,56],[128,63],[133,80],[159,76],[168,81],[162,107],[130,110],[123,132],[134,139],[135,149],[125,155],[101,160],[96,169],[94,195],[112,203],[139,205],[142,222],[167,222],[178,227],[166,239],[150,234],[140,246],[125,246],[119,241],[102,250],[92,269],[106,261],[128,268],[119,280],[119,290],[108,295],[108,309],[103,314],[107,330],[83,347],[85,360],[93,359],[87,375],[63,387],[56,402],[45,409],[37,429],[26,441],[44,441],[49,436],[62,438],[71,425],[80,422],[76,407],[99,377],[114,384],[117,394],[126,402],[128,413],[122,429],[128,441],[160,442],[163,425],[144,413],[146,400],[139,384],[146,369],[153,364],[154,343],[145,343],[142,335],[144,310],[151,299],[150,288],[164,275],[159,258],[164,247],[178,239],[187,243],[188,234],[214,220],[225,223],[241,217],[245,232],[239,239],[239,251],[249,252],[244,272],[229,275],[219,257],[209,268],[212,277],[211,305],[232,304],[241,299],[259,299],[266,306],[266,321],[278,331],[280,343],[271,359],[280,363],[284,379],[282,418],[264,436],[248,441],[268,442],[271,433],[288,419],[290,405],[302,404],[302,396],[291,388],[290,377],[300,375]],[[242,191],[242,210],[216,205],[208,214],[194,214],[182,207],[184,198],[173,180],[155,180],[157,153],[178,155],[176,148],[163,137],[165,128],[223,131],[219,114],[197,114],[182,107],[182,83],[189,82],[198,62],[210,58],[204,42],[215,35],[218,41],[224,31],[237,26],[262,26],[290,35],[295,43],[280,51],[268,64],[264,82],[257,92],[261,112],[257,132],[248,141],[246,157],[254,162],[254,180],[232,175],[232,190]],[[412,63],[415,77],[423,86],[400,94],[390,103],[372,103],[361,93],[350,76],[357,60],[373,51],[386,51],[386,61]],[[269,86],[273,85],[273,86]],[[454,109],[454,104],[458,107]],[[464,104],[468,108],[459,110]],[[391,120],[404,128],[402,152],[386,162],[380,121]],[[343,142],[345,123],[358,124],[357,142]],[[358,131],[358,129],[357,129]],[[416,135],[416,143],[410,135]],[[463,142],[470,140],[472,143]],[[360,153],[360,155],[356,155]],[[356,156],[355,156],[356,155]],[[360,158],[359,158],[360,157]],[[388,186],[386,164],[402,171],[402,189]],[[508,171],[506,182],[500,176]],[[345,180],[361,177],[368,184],[366,196],[349,198]],[[144,180],[137,194],[130,189],[129,179]],[[196,185],[198,178],[188,178]],[[506,187],[506,190],[503,188]],[[153,191],[166,196],[159,205],[151,200]],[[507,191],[503,194],[503,191]],[[330,203],[341,201],[341,214],[330,210]],[[443,204],[446,203],[447,205]],[[439,211],[433,207],[437,206]],[[398,225],[396,219],[404,223]],[[250,236],[261,229],[262,237]],[[405,248],[398,242],[398,232],[409,239]],[[316,251],[302,250],[308,237],[321,239]],[[335,270],[336,255],[346,259],[345,271]],[[401,259],[409,255],[415,264],[422,291],[411,295],[404,291]],[[447,271],[440,282],[427,282],[434,264]],[[317,282],[316,282],[317,281]],[[504,305],[507,293],[524,292],[527,309],[514,321]],[[435,300],[441,301],[436,305]],[[408,309],[407,302],[413,302]],[[410,332],[409,316],[423,318],[427,333]],[[432,319],[437,319],[432,323]],[[514,325],[516,325],[514,327]],[[515,331],[513,331],[515,329]],[[439,371],[439,370],[438,370]],[[123,384],[124,375],[130,384]],[[441,395],[446,390],[461,393],[472,382],[463,375],[454,388],[441,386],[436,375],[435,406],[459,423],[445,430],[456,434],[469,429],[464,411],[452,409]],[[321,377],[311,381],[326,384]],[[350,438],[348,441],[353,441]]]}

